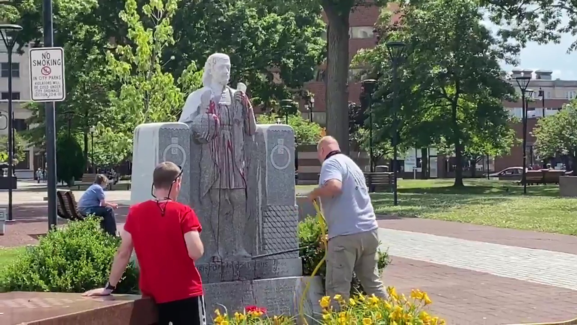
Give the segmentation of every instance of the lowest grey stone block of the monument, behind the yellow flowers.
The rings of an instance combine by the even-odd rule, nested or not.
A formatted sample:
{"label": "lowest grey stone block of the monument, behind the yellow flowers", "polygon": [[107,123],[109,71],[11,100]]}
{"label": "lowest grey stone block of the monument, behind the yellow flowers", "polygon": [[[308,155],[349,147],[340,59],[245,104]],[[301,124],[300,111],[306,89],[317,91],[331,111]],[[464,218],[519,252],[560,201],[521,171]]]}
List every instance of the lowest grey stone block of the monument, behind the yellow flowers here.
{"label": "lowest grey stone block of the monument, behind the yellow flowers", "polygon": [[[207,313],[212,314],[215,309],[224,312],[224,306],[226,312],[232,315],[237,311],[242,312],[246,306],[258,306],[267,308],[267,315],[296,316],[309,279],[308,276],[289,276],[208,283],[203,285]],[[306,315],[314,317],[321,312],[319,300],[324,296],[324,289],[320,276],[310,281],[303,309]]]}

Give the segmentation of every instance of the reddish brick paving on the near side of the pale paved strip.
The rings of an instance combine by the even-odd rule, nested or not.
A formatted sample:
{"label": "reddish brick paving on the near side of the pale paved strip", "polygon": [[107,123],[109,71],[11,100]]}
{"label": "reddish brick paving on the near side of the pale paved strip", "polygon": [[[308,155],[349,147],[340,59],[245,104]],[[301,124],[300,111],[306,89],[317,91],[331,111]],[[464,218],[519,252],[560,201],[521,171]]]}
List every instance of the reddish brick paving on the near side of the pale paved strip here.
{"label": "reddish brick paving on the near side of the pale paved strip", "polygon": [[387,286],[426,291],[430,310],[456,325],[559,322],[577,317],[577,291],[392,256]]}

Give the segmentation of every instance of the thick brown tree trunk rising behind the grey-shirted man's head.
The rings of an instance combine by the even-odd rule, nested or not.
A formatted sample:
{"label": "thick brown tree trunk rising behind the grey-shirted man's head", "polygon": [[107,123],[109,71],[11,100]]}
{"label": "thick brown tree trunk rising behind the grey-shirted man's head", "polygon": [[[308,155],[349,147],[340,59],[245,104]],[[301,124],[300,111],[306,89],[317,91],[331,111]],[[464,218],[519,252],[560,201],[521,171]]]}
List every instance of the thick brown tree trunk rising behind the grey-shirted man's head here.
{"label": "thick brown tree trunk rising behind the grey-shirted man's head", "polygon": [[349,154],[349,10],[346,5],[322,1],[328,19],[327,54],[327,134],[339,142],[340,150]]}

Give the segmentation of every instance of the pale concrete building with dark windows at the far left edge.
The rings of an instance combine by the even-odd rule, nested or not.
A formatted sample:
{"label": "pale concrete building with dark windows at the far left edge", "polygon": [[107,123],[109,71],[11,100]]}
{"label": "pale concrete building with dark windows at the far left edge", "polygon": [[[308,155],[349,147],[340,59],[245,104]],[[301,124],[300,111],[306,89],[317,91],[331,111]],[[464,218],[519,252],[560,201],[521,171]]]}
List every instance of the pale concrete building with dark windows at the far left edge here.
{"label": "pale concrete building with dark windows at the far left edge", "polygon": [[[16,48],[16,46],[15,46]],[[12,54],[12,69],[8,67],[8,53],[4,43],[0,41],[0,135],[8,134],[8,76],[12,70],[12,107],[14,109],[14,130],[16,132],[28,130],[26,120],[31,112],[24,108],[24,104],[30,101],[30,83],[28,68],[28,50],[25,47],[23,54]],[[32,147],[25,151],[24,160],[15,166],[18,178],[33,178],[35,170],[35,154]]]}

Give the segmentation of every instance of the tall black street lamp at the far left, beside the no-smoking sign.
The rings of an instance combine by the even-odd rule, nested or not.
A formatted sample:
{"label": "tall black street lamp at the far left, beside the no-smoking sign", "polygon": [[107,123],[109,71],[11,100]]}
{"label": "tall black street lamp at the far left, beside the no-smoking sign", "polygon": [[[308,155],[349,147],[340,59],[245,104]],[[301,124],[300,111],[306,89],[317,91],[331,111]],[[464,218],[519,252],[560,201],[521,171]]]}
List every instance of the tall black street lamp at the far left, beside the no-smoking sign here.
{"label": "tall black street lamp at the far left, beside the no-smoking sign", "polygon": [[22,26],[13,24],[0,24],[0,34],[8,52],[8,220],[14,222],[12,217],[12,187],[14,175],[14,111],[12,110],[12,50],[16,44],[16,35],[22,30]]}

